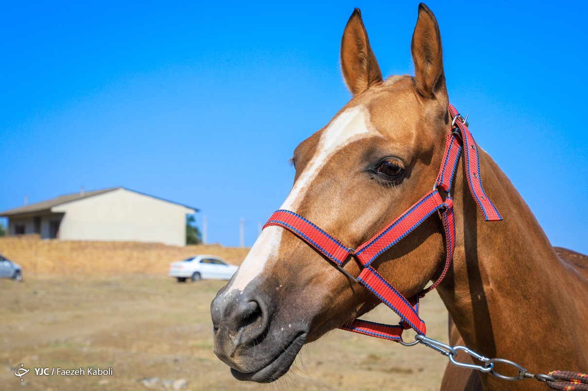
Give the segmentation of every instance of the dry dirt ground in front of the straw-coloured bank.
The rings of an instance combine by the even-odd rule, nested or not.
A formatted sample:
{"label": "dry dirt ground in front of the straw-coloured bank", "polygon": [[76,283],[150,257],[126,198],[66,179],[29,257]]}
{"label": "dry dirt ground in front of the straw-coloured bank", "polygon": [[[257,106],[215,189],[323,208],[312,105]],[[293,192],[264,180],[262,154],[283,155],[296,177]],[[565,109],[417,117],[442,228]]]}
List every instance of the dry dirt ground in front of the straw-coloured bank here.
{"label": "dry dirt ground in front of the straw-coloured bank", "polygon": [[[332,331],[273,385],[242,383],[212,352],[209,305],[225,282],[153,275],[0,279],[2,390],[437,390],[446,359],[424,346]],[[447,342],[439,296],[422,302],[427,336]],[[397,322],[379,306],[368,319]],[[412,338],[411,338],[412,339]],[[20,381],[15,367],[30,369]],[[112,376],[35,375],[34,368]]]}

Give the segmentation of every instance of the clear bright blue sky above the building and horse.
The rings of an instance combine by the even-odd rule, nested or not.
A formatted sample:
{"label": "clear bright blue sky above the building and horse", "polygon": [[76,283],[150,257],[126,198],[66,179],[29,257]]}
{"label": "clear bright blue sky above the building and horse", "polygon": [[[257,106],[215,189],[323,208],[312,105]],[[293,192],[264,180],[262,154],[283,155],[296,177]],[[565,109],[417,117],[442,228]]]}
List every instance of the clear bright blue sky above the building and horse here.
{"label": "clear bright blue sky above the building and horse", "polygon": [[[588,253],[585,3],[430,1],[450,100],[553,245]],[[80,186],[193,205],[246,245],[288,159],[349,100],[340,38],[362,10],[385,75],[413,74],[418,2],[5,2],[0,210]]]}

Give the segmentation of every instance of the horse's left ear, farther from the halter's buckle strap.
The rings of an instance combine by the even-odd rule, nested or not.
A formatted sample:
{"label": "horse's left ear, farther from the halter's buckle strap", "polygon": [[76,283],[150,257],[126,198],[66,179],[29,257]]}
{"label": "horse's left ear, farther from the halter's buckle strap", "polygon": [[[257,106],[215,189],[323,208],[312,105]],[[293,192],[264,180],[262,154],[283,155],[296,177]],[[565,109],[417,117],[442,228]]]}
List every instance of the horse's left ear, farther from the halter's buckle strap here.
{"label": "horse's left ear, farther from the halter's buckle strap", "polygon": [[382,81],[382,72],[369,46],[368,32],[362,13],[356,8],[351,14],[341,39],[341,69],[345,83],[353,95]]}

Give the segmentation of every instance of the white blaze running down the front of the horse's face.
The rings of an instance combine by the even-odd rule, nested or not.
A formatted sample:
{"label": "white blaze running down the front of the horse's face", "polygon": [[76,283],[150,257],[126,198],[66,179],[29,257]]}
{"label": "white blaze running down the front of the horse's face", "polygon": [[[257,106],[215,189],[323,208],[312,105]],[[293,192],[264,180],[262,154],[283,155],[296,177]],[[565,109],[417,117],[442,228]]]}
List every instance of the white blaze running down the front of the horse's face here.
{"label": "white blaze running down the front of the horse's face", "polygon": [[[321,134],[315,156],[309,161],[304,172],[300,174],[280,209],[295,212],[304,200],[306,190],[312,184],[320,168],[325,166],[336,151],[353,141],[375,133],[369,124],[369,113],[363,106],[353,107],[339,114]],[[263,271],[263,267],[270,258],[278,257],[283,230],[282,227],[272,226],[262,231],[245,261],[239,267],[235,280],[225,293],[229,293],[233,289],[243,291],[245,286]]]}

